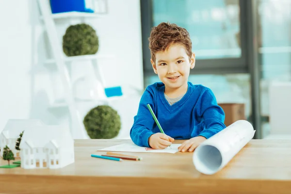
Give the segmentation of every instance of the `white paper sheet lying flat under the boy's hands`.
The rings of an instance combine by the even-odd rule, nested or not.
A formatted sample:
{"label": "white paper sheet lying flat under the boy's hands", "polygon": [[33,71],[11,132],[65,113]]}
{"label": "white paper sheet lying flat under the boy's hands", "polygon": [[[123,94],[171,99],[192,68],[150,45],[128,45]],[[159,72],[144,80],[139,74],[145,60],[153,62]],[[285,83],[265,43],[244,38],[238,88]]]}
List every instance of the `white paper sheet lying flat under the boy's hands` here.
{"label": "white paper sheet lying flat under the boy's hands", "polygon": [[151,149],[148,147],[137,146],[134,143],[120,144],[117,146],[106,147],[98,151],[120,151],[120,152],[149,152],[149,153],[176,153],[181,144],[172,144],[171,147],[165,149]]}

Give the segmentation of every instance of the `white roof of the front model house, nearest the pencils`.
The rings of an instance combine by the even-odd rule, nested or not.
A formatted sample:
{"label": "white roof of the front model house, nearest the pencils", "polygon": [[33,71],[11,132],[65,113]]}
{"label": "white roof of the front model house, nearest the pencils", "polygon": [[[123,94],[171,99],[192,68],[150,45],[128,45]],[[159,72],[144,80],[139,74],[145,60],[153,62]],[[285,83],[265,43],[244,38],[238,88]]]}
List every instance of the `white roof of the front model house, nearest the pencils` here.
{"label": "white roof of the front model house, nearest the pencils", "polygon": [[71,141],[73,141],[73,138],[68,128],[56,125],[43,125],[25,130],[20,142],[20,148],[24,144],[30,147],[45,147],[49,143],[56,147],[62,147]]}

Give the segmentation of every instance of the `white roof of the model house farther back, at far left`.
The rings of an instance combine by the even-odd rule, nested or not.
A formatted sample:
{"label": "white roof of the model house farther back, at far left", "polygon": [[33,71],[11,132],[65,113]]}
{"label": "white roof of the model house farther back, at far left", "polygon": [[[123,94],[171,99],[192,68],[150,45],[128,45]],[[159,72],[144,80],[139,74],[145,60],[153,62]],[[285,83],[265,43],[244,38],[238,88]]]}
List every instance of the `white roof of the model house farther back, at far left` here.
{"label": "white roof of the model house farther back, at far left", "polygon": [[34,126],[44,125],[41,120],[38,119],[9,119],[2,130],[2,134],[5,138],[18,138],[19,134],[24,130]]}

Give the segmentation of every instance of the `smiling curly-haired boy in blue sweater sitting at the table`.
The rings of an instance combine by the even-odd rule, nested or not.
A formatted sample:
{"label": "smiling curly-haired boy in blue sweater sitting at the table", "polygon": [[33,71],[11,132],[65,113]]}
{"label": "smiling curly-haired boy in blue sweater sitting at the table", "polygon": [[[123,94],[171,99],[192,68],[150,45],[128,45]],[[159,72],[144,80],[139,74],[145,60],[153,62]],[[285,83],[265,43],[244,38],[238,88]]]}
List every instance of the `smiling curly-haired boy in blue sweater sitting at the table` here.
{"label": "smiling curly-haired boy in blue sweater sitting at the table", "polygon": [[[195,65],[192,42],[186,29],[161,23],[149,37],[151,64],[162,82],[146,87],[130,137],[138,146],[163,149],[174,139],[188,139],[178,151],[193,152],[206,139],[225,129],[225,113],[212,91],[188,81]],[[165,134],[160,132],[147,104],[153,109]]]}

